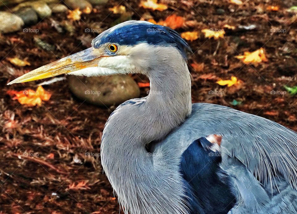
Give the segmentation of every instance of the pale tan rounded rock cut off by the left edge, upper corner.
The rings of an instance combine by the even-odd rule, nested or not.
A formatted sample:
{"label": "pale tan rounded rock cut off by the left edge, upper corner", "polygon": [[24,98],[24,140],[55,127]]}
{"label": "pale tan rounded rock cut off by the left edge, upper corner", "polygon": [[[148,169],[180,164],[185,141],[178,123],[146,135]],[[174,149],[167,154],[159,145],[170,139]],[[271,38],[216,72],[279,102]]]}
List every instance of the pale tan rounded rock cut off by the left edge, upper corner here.
{"label": "pale tan rounded rock cut off by the left edge, upper corner", "polygon": [[18,31],[24,25],[24,21],[17,15],[0,11],[0,33]]}

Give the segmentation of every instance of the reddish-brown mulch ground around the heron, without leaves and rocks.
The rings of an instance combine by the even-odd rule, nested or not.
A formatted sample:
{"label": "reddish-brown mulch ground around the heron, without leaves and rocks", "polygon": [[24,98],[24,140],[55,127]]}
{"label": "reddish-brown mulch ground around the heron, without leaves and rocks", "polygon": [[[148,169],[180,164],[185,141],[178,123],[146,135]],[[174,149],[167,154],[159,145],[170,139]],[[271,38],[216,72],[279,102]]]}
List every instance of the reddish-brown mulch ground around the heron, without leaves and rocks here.
{"label": "reddish-brown mulch ground around the heron, without leaves and rocks", "polygon": [[[203,35],[189,42],[194,52],[189,57],[189,65],[193,61],[204,63],[202,71],[196,72],[189,66],[194,78],[192,101],[231,106],[297,130],[297,97],[283,93],[283,85],[296,85],[297,18],[286,9],[297,5],[297,1],[250,0],[241,6],[232,5],[227,0],[162,2],[169,5],[168,10],[151,11],[140,8],[138,1],[111,0],[105,6],[96,7],[96,13],[83,15],[81,21],[73,22],[73,34],[58,33],[52,26],[51,19],[58,23],[66,20],[66,14],[58,14],[32,26],[32,29],[39,30],[36,34],[17,32],[0,37],[0,213],[119,212],[117,199],[102,174],[100,157],[85,155],[86,152],[100,152],[102,130],[114,107],[101,108],[74,98],[67,81],[45,86],[52,97],[41,107],[20,105],[6,95],[8,89],[24,90],[36,84],[6,86],[15,77],[85,49],[88,45],[84,46],[82,41],[84,43],[89,40],[89,35],[95,37],[97,34],[85,33],[84,29],[110,27],[119,15],[110,13],[108,8],[117,4],[126,6],[127,11],[133,13],[134,20],[148,15],[155,20],[164,20],[170,14],[176,14],[196,21],[178,29],[179,33],[204,28],[221,29],[227,23],[256,25],[255,30],[227,32],[218,48],[217,40]],[[267,11],[266,7],[270,5],[278,5],[279,11]],[[224,14],[218,14],[219,8],[224,9]],[[286,32],[271,32],[275,28]],[[54,50],[45,51],[37,47],[34,36],[54,45]],[[243,65],[234,57],[261,47],[266,50],[267,63]],[[14,56],[28,57],[31,66],[19,68],[11,65],[7,58]],[[227,88],[215,83],[218,78],[226,79],[232,75],[244,82],[242,87]],[[141,76],[134,78],[137,82],[147,81]],[[146,96],[147,90],[149,88],[142,88],[141,96]],[[234,99],[242,101],[242,104],[230,105]],[[8,128],[11,124],[13,128]],[[34,155],[29,160],[18,157],[20,154]],[[49,154],[54,154],[54,159],[47,158]],[[34,161],[37,159],[41,162]],[[76,159],[82,163],[75,163]],[[75,186],[77,190],[73,188]]]}

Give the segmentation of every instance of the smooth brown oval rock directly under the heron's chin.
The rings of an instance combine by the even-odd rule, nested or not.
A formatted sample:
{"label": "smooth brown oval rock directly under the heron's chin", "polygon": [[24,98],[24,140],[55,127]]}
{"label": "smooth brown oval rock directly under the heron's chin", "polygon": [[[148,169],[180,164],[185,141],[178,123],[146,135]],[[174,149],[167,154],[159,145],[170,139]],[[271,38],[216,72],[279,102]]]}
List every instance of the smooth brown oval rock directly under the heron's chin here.
{"label": "smooth brown oval rock directly under the heron's chin", "polygon": [[126,75],[104,77],[67,76],[72,93],[87,102],[100,106],[111,106],[140,95],[136,82]]}

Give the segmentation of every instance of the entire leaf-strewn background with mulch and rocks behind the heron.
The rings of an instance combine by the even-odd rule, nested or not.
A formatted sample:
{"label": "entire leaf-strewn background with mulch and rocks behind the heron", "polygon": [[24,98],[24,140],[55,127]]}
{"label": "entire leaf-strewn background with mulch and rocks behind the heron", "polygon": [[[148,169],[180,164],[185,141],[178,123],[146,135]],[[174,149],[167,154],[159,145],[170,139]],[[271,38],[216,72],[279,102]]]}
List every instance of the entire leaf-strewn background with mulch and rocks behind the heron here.
{"label": "entire leaf-strewn background with mulch and rocks behind the heron", "polygon": [[119,212],[102,174],[102,131],[117,105],[148,95],[148,79],[6,84],[127,20],[166,25],[187,40],[192,102],[297,130],[297,1],[0,0],[1,214]]}

